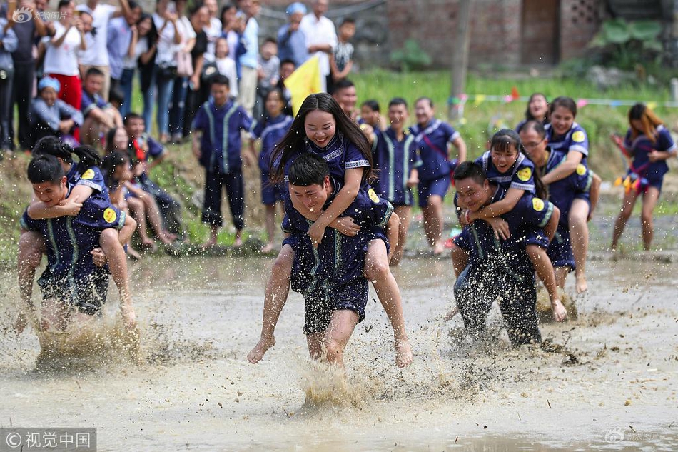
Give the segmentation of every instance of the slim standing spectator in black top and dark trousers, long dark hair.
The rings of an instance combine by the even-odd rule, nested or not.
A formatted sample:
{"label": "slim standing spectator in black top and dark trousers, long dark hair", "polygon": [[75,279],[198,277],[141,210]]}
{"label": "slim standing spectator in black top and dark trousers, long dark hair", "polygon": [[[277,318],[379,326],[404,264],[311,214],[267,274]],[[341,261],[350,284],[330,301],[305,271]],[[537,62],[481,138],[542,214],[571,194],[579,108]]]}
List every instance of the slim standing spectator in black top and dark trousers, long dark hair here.
{"label": "slim standing spectator in black top and dark trousers, long dark hair", "polygon": [[186,109],[184,109],[182,137],[188,136],[191,131],[191,122],[200,107],[201,74],[205,62],[208,37],[204,30],[209,24],[210,13],[206,4],[196,4],[191,9],[191,26],[196,33],[196,45],[191,49],[191,61],[193,61],[193,76],[188,80],[188,92],[186,94]]}

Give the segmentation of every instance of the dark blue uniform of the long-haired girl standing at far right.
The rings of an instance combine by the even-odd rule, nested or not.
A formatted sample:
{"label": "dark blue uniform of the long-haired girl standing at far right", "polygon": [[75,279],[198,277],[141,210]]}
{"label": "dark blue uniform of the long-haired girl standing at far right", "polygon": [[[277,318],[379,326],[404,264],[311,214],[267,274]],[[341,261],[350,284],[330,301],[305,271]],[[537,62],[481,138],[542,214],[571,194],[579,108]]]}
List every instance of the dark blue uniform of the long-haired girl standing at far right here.
{"label": "dark blue uniform of the long-haired girl standing at far right", "polygon": [[656,187],[662,191],[664,174],[669,171],[669,166],[665,160],[659,160],[652,163],[649,161],[648,154],[652,151],[673,151],[676,149],[671,133],[663,125],[657,126],[654,136],[650,139],[645,134],[639,134],[632,139],[631,129],[627,131],[624,139],[624,148],[633,156],[633,162],[628,176],[632,179],[641,179],[640,189],[644,192],[648,186]]}

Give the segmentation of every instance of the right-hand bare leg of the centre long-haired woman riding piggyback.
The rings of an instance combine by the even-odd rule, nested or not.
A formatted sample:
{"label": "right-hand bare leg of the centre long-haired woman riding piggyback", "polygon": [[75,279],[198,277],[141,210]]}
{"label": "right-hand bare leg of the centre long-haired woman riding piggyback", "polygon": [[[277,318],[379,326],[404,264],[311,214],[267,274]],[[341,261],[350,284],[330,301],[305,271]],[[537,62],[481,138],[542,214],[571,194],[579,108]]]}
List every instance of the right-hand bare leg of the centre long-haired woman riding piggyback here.
{"label": "right-hand bare leg of the centre long-haired woman riding piggyback", "polygon": [[395,363],[398,367],[409,366],[412,362],[412,346],[405,331],[405,316],[403,314],[403,301],[400,298],[398,283],[393,277],[388,266],[386,245],[383,241],[375,239],[368,245],[368,253],[365,256],[365,277],[372,281],[381,306],[393,328],[395,337]]}

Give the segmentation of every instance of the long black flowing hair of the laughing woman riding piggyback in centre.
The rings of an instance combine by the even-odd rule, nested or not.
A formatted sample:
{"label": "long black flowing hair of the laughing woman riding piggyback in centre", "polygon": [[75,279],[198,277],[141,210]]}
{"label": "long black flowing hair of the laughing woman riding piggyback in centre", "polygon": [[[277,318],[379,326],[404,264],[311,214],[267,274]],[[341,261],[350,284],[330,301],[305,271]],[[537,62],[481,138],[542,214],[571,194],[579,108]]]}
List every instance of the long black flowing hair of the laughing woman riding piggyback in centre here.
{"label": "long black flowing hair of the laughing woman riding piggyback in centre", "polygon": [[306,146],[306,115],[311,111],[321,110],[331,114],[336,121],[335,134],[344,134],[360,150],[365,159],[370,162],[369,167],[363,170],[363,181],[373,176],[372,167],[372,148],[367,137],[360,130],[358,124],[353,119],[345,115],[337,101],[327,93],[310,94],[301,104],[301,107],[295,116],[290,130],[285,134],[280,143],[278,143],[273,152],[270,153],[270,179],[274,183],[280,183],[285,179],[285,164],[290,157],[297,151],[305,149]]}

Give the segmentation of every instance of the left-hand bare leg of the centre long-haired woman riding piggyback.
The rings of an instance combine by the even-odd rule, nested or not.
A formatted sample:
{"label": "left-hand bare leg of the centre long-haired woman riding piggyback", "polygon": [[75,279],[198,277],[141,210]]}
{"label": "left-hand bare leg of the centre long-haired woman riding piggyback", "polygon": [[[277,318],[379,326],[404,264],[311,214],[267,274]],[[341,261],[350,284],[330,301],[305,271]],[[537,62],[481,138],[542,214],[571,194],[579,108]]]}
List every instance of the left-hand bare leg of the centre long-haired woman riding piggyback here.
{"label": "left-hand bare leg of the centre long-haired woman riding piggyback", "polygon": [[263,301],[263,319],[261,321],[261,336],[259,343],[247,355],[251,363],[258,363],[266,351],[275,345],[275,326],[278,324],[280,312],[285,307],[285,302],[290,293],[290,274],[292,273],[292,261],[294,251],[289,245],[283,246],[278,258],[273,263],[270,279],[266,284],[266,293]]}

